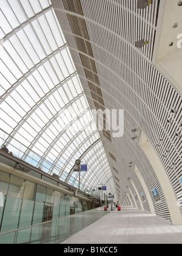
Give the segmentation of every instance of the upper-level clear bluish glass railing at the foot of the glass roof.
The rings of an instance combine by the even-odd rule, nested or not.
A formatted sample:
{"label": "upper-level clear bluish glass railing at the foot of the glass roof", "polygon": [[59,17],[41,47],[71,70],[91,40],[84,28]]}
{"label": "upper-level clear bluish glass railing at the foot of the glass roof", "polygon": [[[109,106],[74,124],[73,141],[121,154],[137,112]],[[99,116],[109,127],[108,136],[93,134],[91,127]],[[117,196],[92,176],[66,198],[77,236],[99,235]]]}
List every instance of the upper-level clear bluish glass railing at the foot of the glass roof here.
{"label": "upper-level clear bluish glass railing at the foot of the glass roof", "polygon": [[[42,171],[49,173],[51,170],[51,175],[54,175],[54,177],[57,177],[62,182],[66,182],[75,188],[79,187],[79,181],[69,175],[67,172],[61,171],[59,166],[53,165],[53,163],[49,162],[48,160],[45,160],[45,158],[42,158],[40,155],[36,154],[26,146],[24,146],[22,143],[19,143],[18,140],[8,135],[8,133],[4,132],[4,130],[0,129],[0,148],[5,142],[8,140],[7,148],[9,152],[12,152],[12,154],[15,157],[18,157],[21,160],[24,160],[25,162],[29,163],[30,165],[40,168]],[[80,190],[86,191],[87,187],[83,183],[80,183]]]}

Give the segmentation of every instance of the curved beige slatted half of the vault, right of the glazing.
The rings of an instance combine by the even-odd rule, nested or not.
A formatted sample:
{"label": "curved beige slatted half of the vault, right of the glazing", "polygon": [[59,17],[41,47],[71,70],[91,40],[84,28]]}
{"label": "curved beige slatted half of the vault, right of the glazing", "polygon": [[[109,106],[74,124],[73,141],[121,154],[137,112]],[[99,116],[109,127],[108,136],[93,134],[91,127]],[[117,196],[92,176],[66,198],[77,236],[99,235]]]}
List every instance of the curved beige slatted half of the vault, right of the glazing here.
{"label": "curved beige slatted half of the vault, right of the glazing", "polygon": [[[163,185],[149,158],[153,155],[154,162],[160,158],[178,197],[182,176],[180,85],[158,65],[161,48],[171,51],[169,38],[173,41],[178,30],[174,34],[171,20],[168,41],[162,37],[168,1],[153,0],[144,10],[138,9],[137,2],[52,0],[90,108],[124,110],[123,136],[115,138],[109,129],[99,132],[118,199],[130,203],[135,197],[136,205],[149,211],[151,201],[155,213],[170,220]],[[182,8],[178,2],[170,3],[171,12],[178,10],[177,22]],[[138,48],[136,41],[140,40],[143,45]],[[104,118],[107,127],[107,115]],[[153,199],[154,188],[160,194],[160,204]],[[141,201],[137,197],[143,193],[146,200]]]}

